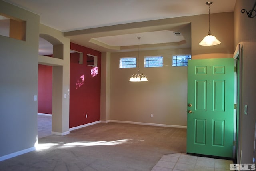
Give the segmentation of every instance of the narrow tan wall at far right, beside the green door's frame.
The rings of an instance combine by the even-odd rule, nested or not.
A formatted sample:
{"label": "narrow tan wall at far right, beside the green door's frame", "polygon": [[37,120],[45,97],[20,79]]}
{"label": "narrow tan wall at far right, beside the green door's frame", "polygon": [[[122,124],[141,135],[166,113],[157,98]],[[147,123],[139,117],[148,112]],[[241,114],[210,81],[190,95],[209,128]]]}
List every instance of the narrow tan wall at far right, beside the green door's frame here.
{"label": "narrow tan wall at far right, beside the green door's frame", "polygon": [[[240,108],[240,139],[237,163],[252,163],[255,142],[255,123],[256,123],[256,21],[248,18],[240,10],[251,10],[255,1],[236,0],[234,10],[234,47],[238,44],[242,46],[242,87],[241,108]],[[248,106],[247,115],[244,114],[244,105]],[[241,155],[242,154],[242,155]],[[241,159],[241,160],[240,160]]]}

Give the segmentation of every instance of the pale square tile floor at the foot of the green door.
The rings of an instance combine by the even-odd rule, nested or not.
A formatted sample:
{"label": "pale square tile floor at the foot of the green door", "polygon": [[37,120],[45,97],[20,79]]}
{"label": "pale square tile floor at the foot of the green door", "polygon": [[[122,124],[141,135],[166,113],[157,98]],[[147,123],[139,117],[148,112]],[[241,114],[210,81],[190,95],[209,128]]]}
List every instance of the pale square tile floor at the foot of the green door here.
{"label": "pale square tile floor at the foot of the green door", "polygon": [[151,171],[230,171],[232,163],[232,160],[176,153],[164,155]]}

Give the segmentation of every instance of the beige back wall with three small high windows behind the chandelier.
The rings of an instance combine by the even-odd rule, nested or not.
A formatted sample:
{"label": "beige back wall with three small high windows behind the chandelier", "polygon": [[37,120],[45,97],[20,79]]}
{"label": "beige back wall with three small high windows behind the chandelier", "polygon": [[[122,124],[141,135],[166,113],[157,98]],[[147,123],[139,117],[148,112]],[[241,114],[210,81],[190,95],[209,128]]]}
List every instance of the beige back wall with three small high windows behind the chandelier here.
{"label": "beige back wall with three small high windows behind the chandelier", "polygon": [[[190,48],[140,51],[140,73],[148,82],[129,82],[138,68],[119,68],[119,58],[138,58],[138,51],[112,53],[110,119],[186,126],[187,67],[172,67],[172,55],[190,53]],[[164,66],[144,68],[144,56],[163,56]]]}

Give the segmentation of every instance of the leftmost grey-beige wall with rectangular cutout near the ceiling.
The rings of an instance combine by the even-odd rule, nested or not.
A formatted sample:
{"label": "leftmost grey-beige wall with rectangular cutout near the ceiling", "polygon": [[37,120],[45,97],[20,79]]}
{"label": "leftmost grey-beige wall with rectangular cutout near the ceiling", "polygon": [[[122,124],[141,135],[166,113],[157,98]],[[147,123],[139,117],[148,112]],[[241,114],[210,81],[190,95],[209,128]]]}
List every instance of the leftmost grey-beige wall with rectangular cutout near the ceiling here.
{"label": "leftmost grey-beige wall with rectangular cutout near the ceiling", "polygon": [[26,21],[26,41],[0,36],[0,161],[37,142],[39,16],[0,0],[0,13]]}

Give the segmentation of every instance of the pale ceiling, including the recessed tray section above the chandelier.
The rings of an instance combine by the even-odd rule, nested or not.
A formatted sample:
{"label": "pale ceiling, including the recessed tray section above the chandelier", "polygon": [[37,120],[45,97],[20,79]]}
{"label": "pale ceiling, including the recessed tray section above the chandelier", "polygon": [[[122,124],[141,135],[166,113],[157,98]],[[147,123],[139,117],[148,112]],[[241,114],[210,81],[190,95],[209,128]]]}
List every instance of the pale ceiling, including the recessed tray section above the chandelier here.
{"label": "pale ceiling, including the recessed tray section above the chandelier", "polygon": [[[141,37],[140,44],[161,44],[174,48],[189,48],[191,38],[186,32],[190,32],[187,23],[170,26],[168,30],[162,28],[154,32],[137,32],[124,34],[76,34],[68,36],[76,30],[90,30],[144,22],[150,20],[175,18],[181,16],[193,16],[208,14],[206,0],[4,0],[30,12],[40,15],[40,23],[50,26],[61,32],[67,32],[71,42],[93,48],[101,52],[118,52],[135,50],[138,45],[137,37]],[[210,12],[232,12],[235,0],[212,0]],[[181,28],[181,29],[178,29]],[[180,32],[176,36],[175,32]],[[128,33],[128,34],[127,34]],[[64,33],[65,35],[65,33]],[[99,36],[100,35],[100,36]],[[94,37],[96,36],[96,37]],[[42,39],[40,39],[42,40]],[[164,46],[147,46],[148,50]],[[40,47],[47,49],[47,42],[40,41]],[[145,46],[146,47],[146,46]],[[143,48],[143,47],[142,47]]]}

